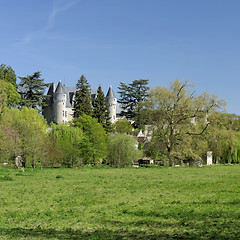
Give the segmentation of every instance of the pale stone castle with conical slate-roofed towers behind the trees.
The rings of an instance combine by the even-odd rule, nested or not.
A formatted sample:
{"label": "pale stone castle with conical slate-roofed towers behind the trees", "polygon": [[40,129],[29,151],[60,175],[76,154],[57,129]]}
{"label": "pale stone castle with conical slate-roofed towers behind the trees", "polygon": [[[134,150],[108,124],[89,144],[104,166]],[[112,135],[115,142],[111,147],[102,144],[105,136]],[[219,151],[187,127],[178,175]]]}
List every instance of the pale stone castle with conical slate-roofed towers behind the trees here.
{"label": "pale stone castle with conical slate-roofed towers behind the trees", "polygon": [[[47,95],[46,107],[43,109],[43,116],[48,124],[51,122],[64,123],[73,119],[74,96],[77,89],[75,87],[63,86],[59,81],[57,87],[51,83]],[[97,90],[91,90],[92,99],[97,97]],[[109,87],[106,95],[106,105],[109,111],[110,121],[116,121],[117,98],[113,92],[112,86]]]}

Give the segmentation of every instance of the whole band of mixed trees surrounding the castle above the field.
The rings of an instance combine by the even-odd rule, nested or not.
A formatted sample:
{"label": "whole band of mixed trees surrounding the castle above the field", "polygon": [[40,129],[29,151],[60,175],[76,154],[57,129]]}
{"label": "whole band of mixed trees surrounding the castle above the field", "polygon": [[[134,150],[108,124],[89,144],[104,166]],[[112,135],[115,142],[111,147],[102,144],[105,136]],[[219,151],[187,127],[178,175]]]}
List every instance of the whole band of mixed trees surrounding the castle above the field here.
{"label": "whole band of mixed trees surrounding the castle above the field", "polygon": [[[130,166],[142,156],[166,165],[202,161],[207,151],[215,163],[239,163],[240,118],[224,112],[225,101],[196,95],[188,81],[150,89],[148,80],[120,82],[120,117],[114,124],[101,86],[91,99],[82,75],[76,84],[74,119],[47,125],[41,115],[46,87],[40,72],[17,77],[10,66],[0,67],[0,161],[14,165],[21,156],[27,167],[80,167],[108,164]],[[40,113],[40,114],[39,114]],[[136,149],[133,130],[150,130],[151,140]]]}

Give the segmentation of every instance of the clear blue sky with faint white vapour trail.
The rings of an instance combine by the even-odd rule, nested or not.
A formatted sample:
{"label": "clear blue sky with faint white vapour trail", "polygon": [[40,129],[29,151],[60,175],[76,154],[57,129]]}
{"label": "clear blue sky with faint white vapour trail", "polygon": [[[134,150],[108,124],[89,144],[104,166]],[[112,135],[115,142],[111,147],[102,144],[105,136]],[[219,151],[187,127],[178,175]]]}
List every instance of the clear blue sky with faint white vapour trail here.
{"label": "clear blue sky with faint white vapour trail", "polygon": [[240,115],[239,0],[0,0],[0,64],[91,87],[178,79]]}

